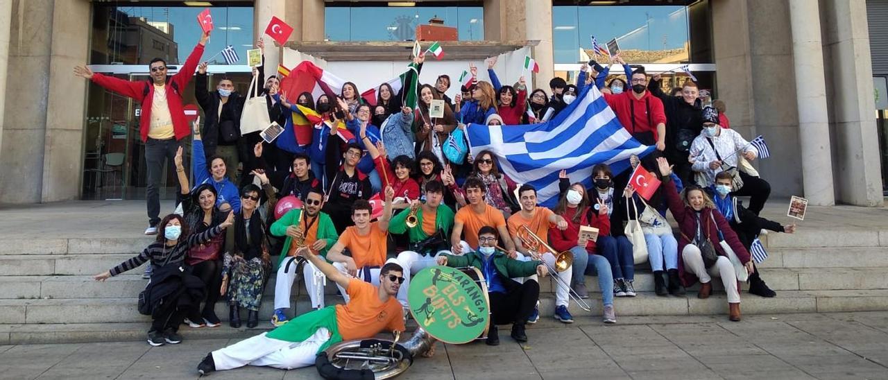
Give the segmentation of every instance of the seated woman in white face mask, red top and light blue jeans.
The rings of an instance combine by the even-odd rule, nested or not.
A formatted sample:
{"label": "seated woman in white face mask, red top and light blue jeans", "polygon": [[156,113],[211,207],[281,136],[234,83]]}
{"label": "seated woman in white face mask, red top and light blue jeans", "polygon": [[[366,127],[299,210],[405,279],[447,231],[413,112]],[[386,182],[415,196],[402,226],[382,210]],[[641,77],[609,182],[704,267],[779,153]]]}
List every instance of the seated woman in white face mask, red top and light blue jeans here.
{"label": "seated woman in white face mask, red top and light blue jeans", "polygon": [[[561,178],[567,179],[567,172],[561,170]],[[595,268],[599,277],[601,292],[601,304],[603,307],[602,320],[605,323],[616,323],[614,313],[614,293],[610,291],[614,283],[611,273],[611,265],[607,258],[598,254],[599,248],[595,241],[580,239],[580,226],[592,226],[599,229],[599,239],[610,234],[610,219],[607,217],[607,205],[599,210],[589,207],[589,198],[586,197],[586,189],[581,183],[575,183],[561,194],[555,214],[567,220],[567,229],[561,231],[557,228],[549,229],[549,241],[554,249],[559,251],[570,250],[575,256],[588,255],[589,264],[586,268],[575,267],[573,289],[580,297],[589,297],[586,289],[585,273],[587,268]]]}

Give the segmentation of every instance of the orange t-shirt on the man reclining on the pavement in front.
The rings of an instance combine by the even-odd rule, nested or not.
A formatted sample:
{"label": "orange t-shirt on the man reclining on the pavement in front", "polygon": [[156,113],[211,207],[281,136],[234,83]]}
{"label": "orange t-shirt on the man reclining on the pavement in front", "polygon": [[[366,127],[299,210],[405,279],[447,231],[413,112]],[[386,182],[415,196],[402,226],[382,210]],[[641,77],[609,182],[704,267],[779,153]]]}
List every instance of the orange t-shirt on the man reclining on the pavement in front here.
{"label": "orange t-shirt on the man reclining on the pavement in front", "polygon": [[336,305],[336,323],[343,340],[368,338],[383,329],[404,331],[404,309],[397,297],[383,303],[377,287],[358,279],[348,281],[345,292],[351,298],[348,304]]}

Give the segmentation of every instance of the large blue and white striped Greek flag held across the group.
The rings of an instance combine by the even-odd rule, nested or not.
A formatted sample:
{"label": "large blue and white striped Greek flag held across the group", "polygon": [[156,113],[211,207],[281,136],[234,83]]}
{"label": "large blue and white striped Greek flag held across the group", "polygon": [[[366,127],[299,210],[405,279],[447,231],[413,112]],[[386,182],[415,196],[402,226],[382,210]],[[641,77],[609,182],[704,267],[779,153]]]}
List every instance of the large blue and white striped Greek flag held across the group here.
{"label": "large blue and white striped Greek flag held across the group", "polygon": [[614,175],[629,169],[632,154],[654,150],[633,139],[617,120],[598,88],[587,90],[559,115],[545,123],[466,127],[472,156],[489,150],[500,169],[519,184],[536,188],[537,199],[554,207],[559,198],[559,171],[571,183],[591,187],[592,166],[610,165]]}

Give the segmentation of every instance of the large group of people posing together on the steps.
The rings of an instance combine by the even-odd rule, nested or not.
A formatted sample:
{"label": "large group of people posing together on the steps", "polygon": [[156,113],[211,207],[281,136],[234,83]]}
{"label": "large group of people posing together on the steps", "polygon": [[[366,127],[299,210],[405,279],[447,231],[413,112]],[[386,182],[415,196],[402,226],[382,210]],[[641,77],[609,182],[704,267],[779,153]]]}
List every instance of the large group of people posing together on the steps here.
{"label": "large group of people posing together on the steps", "polygon": [[[795,226],[759,217],[770,187],[749,165],[757,149],[722,124],[718,110],[703,107],[691,80],[670,95],[662,91],[660,75],[647,75],[644,67],[630,67],[617,57],[611,63],[622,64],[624,78],[593,61],[583,65],[575,84],[555,78],[548,92],[530,91],[524,77],[513,85],[500,83],[496,59],[489,59],[491,83],[476,76],[451,100],[450,77],[440,75],[435,83],[416,87],[414,109],[402,103],[405,90],[395,93],[387,84],[378,89],[375,103],[361,98],[353,83],[345,83],[341,93],[313,99],[308,92],[281,93],[279,78],[271,75],[258,93],[266,97],[271,120],[292,126],[298,116],[320,115],[311,133],[297,133],[303,140],[296,146],[282,146],[263,142],[257,132],[241,135],[240,113],[249,97],[234,91],[229,78],[218,79],[216,91],[206,91],[206,63],[199,61],[208,36],[176,75],[166,75],[163,59],[152,60],[151,80],[141,82],[75,67],[76,75],[143,104],[146,234],[157,238],[138,256],[95,278],[104,281],[149,264],[150,281],[139,307],[154,321],[148,343],[180,342],[181,324],[219,326],[214,311],[219,297],[227,298],[232,327],[241,326],[242,309],[246,326],[256,327],[266,281],[277,275],[271,321],[277,329],[211,352],[200,365],[204,373],[248,364],[303,367],[338,340],[403,330],[410,277],[432,265],[474,266],[483,273],[492,313],[487,344],[499,344],[496,325],[503,324],[511,324],[514,340],[527,341],[527,324],[540,315],[538,281],[547,274],[561,280],[554,291],[558,321],[574,321],[568,292],[590,297],[585,276],[594,274],[602,302],[596,314],[615,323],[614,297],[638,295],[634,255],[639,247],[624,229],[631,220],[642,226],[657,296],[684,296],[699,281],[698,297],[706,298],[717,276],[727,293],[730,320],[740,321],[738,278],[728,250],[751,273],[749,292],[774,296],[749,248],[765,229],[793,233]],[[421,70],[424,56],[414,62]],[[204,123],[189,129],[181,91],[195,70]],[[477,75],[477,67],[470,70]],[[261,67],[258,71],[254,75],[263,75]],[[503,173],[493,152],[463,160],[442,153],[445,140],[466,123],[545,122],[593,85],[632,137],[655,146],[653,153],[631,160],[633,167],[641,165],[662,179],[649,198],[628,184],[631,170],[617,173],[599,163],[591,168],[591,187],[571,183],[562,172],[557,206],[550,210],[537,204],[537,189]],[[443,117],[430,117],[433,99],[445,101]],[[354,138],[345,140],[340,125]],[[193,135],[191,180],[182,162],[181,143],[188,134]],[[180,211],[161,219],[157,188],[165,160],[177,172]],[[748,207],[739,196],[749,196]],[[278,215],[277,203],[284,198],[301,206]],[[384,205],[381,210],[371,199]],[[584,226],[598,229],[597,238],[583,234]],[[550,273],[561,251],[573,255],[572,265]],[[299,275],[311,311],[291,311],[291,288]],[[337,284],[345,305],[328,306],[326,281]]]}

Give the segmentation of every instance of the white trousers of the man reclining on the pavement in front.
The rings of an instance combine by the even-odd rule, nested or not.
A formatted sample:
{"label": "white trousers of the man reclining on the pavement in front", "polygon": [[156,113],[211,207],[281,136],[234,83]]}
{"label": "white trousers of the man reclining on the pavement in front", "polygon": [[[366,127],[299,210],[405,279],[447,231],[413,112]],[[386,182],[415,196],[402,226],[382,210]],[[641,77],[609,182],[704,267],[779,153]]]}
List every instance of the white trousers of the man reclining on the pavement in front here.
{"label": "white trousers of the man reclining on the pavement in front", "polygon": [[211,352],[217,370],[243,366],[267,366],[281,369],[314,365],[318,349],[330,338],[328,329],[318,329],[303,342],[287,342],[266,336],[267,333],[244,339],[221,350]]}

